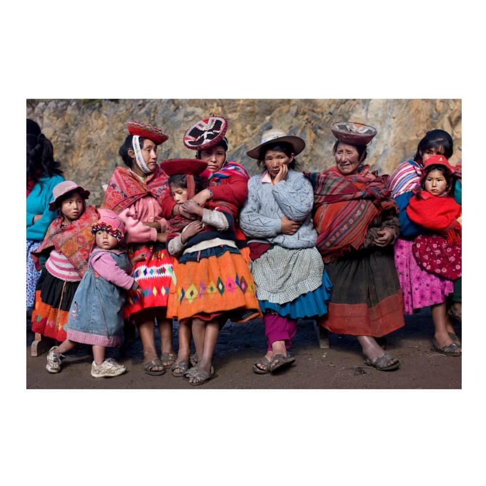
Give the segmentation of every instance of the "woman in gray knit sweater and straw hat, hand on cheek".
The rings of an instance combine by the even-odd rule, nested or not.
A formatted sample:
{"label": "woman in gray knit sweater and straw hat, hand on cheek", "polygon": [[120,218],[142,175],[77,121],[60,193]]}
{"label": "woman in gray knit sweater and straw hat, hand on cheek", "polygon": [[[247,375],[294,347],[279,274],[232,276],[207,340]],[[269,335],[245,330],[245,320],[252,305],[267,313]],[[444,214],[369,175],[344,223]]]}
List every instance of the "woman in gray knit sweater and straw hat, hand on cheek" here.
{"label": "woman in gray knit sweater and straw hat, hand on cheek", "polygon": [[295,361],[288,350],[296,320],[326,314],[330,299],[332,284],[315,247],[312,185],[295,171],[295,156],[304,147],[301,138],[272,129],[247,152],[266,169],[248,181],[240,214],[268,342],[265,356],[253,365],[259,374]]}

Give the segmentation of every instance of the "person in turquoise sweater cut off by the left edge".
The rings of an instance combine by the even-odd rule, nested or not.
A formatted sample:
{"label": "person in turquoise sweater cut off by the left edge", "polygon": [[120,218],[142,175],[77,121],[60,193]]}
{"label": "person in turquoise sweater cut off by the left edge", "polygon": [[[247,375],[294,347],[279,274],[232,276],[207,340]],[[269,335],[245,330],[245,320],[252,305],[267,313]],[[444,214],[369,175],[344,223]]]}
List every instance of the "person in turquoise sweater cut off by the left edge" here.
{"label": "person in turquoise sweater cut off by the left edge", "polygon": [[[27,313],[34,307],[35,286],[40,271],[35,270],[31,251],[39,248],[47,228],[57,216],[49,208],[54,186],[64,180],[54,160],[52,143],[34,120],[27,119]],[[37,338],[38,339],[38,338]]]}

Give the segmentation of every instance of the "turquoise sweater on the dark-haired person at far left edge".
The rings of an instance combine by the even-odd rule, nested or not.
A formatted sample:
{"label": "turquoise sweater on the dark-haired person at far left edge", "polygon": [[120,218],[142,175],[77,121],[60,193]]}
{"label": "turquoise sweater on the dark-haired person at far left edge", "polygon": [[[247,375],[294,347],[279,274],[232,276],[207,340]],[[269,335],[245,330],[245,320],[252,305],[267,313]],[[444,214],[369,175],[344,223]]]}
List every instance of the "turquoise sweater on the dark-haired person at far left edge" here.
{"label": "turquoise sweater on the dark-haired person at far left edge", "polygon": [[[62,175],[54,174],[49,177],[42,174],[27,198],[27,240],[42,241],[47,228],[57,216],[57,210],[49,210],[49,202],[54,199],[52,189],[62,182]],[[42,214],[42,218],[33,223],[34,216]]]}

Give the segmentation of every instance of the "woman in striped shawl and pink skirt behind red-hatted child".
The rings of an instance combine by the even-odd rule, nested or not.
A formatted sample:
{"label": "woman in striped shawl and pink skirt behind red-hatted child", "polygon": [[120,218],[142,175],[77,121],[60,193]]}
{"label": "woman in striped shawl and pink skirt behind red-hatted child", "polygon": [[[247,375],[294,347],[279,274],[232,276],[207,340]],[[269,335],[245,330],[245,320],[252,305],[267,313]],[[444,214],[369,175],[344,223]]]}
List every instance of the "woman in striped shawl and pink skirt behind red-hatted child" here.
{"label": "woman in striped shawl and pink skirt behind red-hatted child", "polygon": [[[460,356],[461,343],[447,312],[447,300],[454,290],[454,284],[418,266],[412,245],[414,238],[426,232],[426,229],[410,220],[406,211],[414,190],[420,185],[426,160],[433,155],[450,158],[452,153],[453,143],[449,133],[438,129],[427,132],[418,142],[413,160],[400,163],[391,174],[389,189],[400,211],[401,231],[400,238],[395,242],[395,264],[403,290],[403,312],[412,314],[422,307],[431,306],[434,321],[433,347],[448,356]],[[461,304],[456,305],[460,310]]]}

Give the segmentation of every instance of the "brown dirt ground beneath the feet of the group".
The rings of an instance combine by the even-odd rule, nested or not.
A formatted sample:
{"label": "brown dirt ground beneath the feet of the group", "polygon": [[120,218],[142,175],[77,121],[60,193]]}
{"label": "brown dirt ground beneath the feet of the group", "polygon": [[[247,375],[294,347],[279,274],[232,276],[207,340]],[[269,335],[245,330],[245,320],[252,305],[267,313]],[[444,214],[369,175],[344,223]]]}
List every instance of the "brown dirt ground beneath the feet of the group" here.
{"label": "brown dirt ground beneath the feet of the group", "polygon": [[[177,349],[177,324],[174,347]],[[456,331],[461,337],[460,325]],[[107,349],[107,357],[126,364],[128,371],[116,378],[90,375],[91,348],[79,346],[63,360],[62,372],[45,369],[46,353],[31,357],[34,334],[27,326],[27,389],[460,389],[462,358],[448,357],[431,349],[433,334],[429,310],[405,316],[405,327],[387,337],[386,349],[401,363],[396,371],[382,372],[363,363],[360,346],[352,336],[330,334],[330,348],[321,349],[313,321],[298,321],[292,346],[295,364],[280,373],[257,375],[252,364],[266,349],[260,319],[246,324],[227,322],[220,333],[213,358],[217,377],[194,387],[174,378],[170,369],[149,376],[142,369],[142,346],[137,336],[126,349]],[[158,343],[158,333],[157,333]]]}

